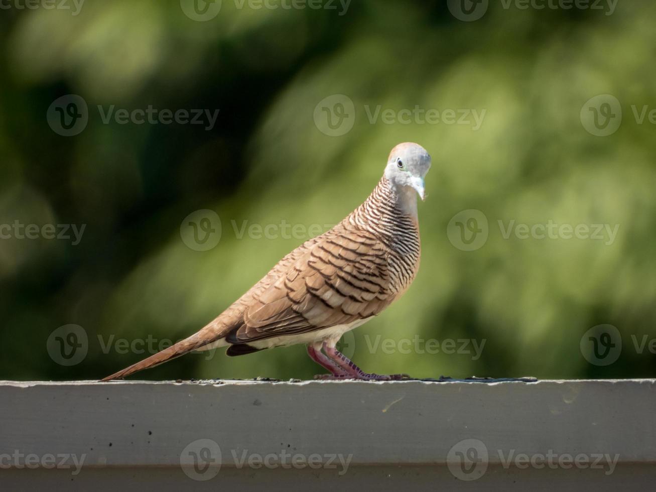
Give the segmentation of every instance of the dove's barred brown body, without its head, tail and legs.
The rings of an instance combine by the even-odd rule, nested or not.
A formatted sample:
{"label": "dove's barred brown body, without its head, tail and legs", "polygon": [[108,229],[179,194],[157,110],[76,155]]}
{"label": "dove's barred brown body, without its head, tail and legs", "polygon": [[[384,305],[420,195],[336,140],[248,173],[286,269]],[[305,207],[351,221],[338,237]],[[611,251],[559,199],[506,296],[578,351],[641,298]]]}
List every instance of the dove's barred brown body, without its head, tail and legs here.
{"label": "dove's barred brown body, without its head, tail and legs", "polygon": [[230,344],[357,323],[409,287],[419,254],[417,216],[382,178],[358,209],[285,256],[213,323]]}

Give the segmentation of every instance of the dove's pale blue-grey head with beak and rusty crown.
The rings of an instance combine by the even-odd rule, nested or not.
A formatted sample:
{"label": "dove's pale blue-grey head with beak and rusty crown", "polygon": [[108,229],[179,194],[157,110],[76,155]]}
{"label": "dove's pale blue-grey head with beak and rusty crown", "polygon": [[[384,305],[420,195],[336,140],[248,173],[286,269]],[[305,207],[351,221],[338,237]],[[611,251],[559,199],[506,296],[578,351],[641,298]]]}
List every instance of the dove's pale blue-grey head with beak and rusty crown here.
{"label": "dove's pale blue-grey head with beak and rusty crown", "polygon": [[419,144],[405,142],[392,149],[385,176],[396,189],[413,188],[421,199],[426,197],[424,176],[430,169],[430,155]]}

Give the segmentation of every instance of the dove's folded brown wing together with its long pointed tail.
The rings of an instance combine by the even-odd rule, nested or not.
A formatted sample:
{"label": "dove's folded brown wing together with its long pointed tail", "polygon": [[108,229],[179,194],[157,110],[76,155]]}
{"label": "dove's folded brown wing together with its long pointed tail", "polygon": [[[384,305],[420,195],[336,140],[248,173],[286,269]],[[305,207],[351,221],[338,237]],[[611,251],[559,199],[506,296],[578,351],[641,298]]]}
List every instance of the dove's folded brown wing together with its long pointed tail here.
{"label": "dove's folded brown wing together with its long pointed tail", "polygon": [[[387,247],[373,234],[338,224],[282,258],[191,337],[103,380],[121,379],[222,338],[240,344],[375,316],[399,294],[392,288],[387,255]],[[228,349],[229,355],[253,351],[246,345]]]}

